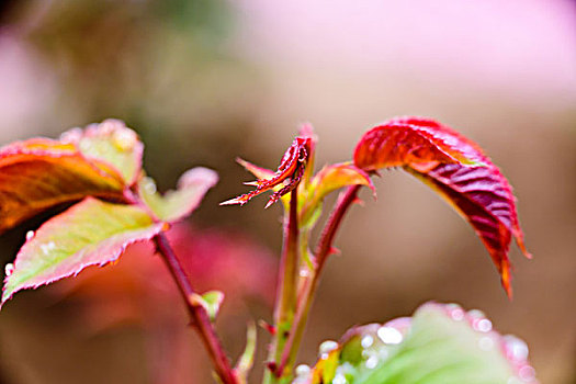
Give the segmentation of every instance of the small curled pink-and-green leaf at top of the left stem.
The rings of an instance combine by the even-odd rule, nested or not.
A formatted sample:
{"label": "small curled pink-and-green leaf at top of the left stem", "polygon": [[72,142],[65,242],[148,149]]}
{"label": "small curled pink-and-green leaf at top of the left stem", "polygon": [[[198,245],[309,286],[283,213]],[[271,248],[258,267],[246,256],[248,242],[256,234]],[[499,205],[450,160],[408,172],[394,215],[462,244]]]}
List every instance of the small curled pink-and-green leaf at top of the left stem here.
{"label": "small curled pink-and-green leaf at top of the left stem", "polygon": [[163,196],[156,191],[151,178],[143,178],[138,183],[138,194],[156,217],[171,223],[190,215],[217,182],[216,172],[196,167],[185,171],[178,180],[178,189],[168,191]]}

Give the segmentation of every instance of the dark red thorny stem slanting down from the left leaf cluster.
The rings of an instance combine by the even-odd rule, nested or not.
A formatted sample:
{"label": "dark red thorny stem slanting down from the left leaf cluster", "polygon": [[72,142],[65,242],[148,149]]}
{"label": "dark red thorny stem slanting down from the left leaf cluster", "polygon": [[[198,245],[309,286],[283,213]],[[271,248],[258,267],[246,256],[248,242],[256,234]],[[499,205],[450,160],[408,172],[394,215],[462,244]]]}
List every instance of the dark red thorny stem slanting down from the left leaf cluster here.
{"label": "dark red thorny stem slanting down from the left leaf cluster", "polygon": [[224,384],[237,384],[238,381],[234,374],[228,357],[224,352],[222,342],[216,335],[216,331],[210,320],[206,309],[194,300],[196,293],[194,292],[187,273],[170,247],[168,239],[163,233],[160,233],[154,238],[159,253],[162,256],[172,278],[174,279],[182,297],[190,313],[192,325],[200,335],[210,357],[214,363],[216,374]]}

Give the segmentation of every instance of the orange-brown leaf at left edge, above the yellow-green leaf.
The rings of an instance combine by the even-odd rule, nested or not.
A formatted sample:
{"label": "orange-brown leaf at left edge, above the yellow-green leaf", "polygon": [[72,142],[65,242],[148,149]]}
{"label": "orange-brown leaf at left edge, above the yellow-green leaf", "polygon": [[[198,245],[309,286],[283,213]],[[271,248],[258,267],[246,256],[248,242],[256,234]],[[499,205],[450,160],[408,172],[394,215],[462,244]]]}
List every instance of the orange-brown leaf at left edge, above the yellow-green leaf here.
{"label": "orange-brown leaf at left edge, above the yellow-green leaf", "polygon": [[0,231],[64,202],[87,195],[121,199],[124,183],[72,144],[47,138],[0,149]]}

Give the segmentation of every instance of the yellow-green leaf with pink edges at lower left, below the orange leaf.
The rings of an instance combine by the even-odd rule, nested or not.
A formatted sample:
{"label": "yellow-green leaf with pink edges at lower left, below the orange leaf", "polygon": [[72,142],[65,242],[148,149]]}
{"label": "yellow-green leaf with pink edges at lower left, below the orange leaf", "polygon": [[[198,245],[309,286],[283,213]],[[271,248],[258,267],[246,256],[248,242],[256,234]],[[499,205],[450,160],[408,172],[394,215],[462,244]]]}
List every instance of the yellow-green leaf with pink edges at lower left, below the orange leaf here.
{"label": "yellow-green leaf with pink edges at lower left, below the orange leaf", "polygon": [[87,197],[26,236],[5,279],[1,304],[20,290],[115,261],[128,245],[150,239],[163,226],[140,207]]}

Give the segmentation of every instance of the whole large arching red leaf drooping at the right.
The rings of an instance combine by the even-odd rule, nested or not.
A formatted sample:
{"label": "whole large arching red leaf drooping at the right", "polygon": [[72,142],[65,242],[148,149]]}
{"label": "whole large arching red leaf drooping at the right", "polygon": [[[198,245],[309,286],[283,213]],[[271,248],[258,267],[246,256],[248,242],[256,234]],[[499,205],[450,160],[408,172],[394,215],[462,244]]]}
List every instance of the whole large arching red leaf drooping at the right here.
{"label": "whole large arching red leaf drooping at the right", "polygon": [[439,192],[474,227],[511,295],[511,238],[527,257],[530,253],[512,189],[477,144],[431,120],[394,118],[362,137],[354,163],[368,171],[403,166]]}

